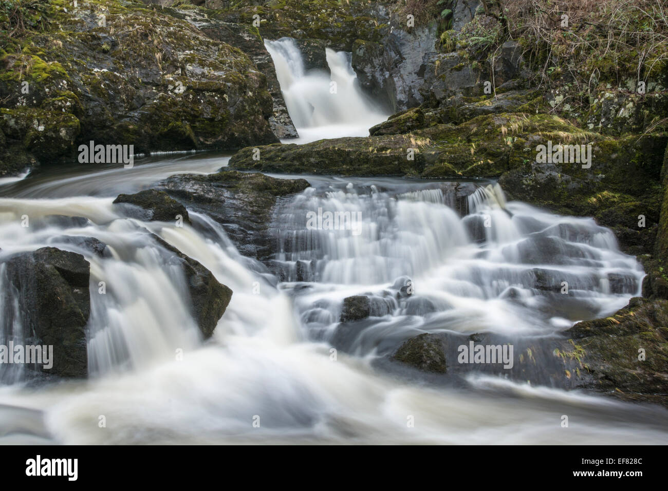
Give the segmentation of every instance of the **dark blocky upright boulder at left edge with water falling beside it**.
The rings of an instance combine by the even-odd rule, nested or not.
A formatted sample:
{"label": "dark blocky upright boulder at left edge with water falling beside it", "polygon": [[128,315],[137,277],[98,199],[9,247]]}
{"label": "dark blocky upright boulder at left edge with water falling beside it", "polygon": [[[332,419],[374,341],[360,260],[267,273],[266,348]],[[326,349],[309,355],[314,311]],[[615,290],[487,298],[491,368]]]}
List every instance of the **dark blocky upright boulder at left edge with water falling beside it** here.
{"label": "dark blocky upright boulder at left edge with water falling beside it", "polygon": [[7,279],[14,289],[23,319],[25,344],[52,345],[53,367],[61,377],[86,377],[86,323],[90,315],[90,264],[80,254],[43,247],[17,255],[7,263]]}

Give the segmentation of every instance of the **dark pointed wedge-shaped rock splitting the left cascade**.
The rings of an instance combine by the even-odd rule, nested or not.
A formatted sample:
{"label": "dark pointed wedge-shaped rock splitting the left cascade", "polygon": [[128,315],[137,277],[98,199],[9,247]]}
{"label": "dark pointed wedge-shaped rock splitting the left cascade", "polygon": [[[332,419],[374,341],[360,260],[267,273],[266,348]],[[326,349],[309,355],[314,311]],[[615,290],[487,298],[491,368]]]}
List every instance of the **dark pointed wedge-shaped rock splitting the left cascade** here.
{"label": "dark pointed wedge-shaped rock splitting the left cascade", "polygon": [[218,282],[213,273],[198,261],[184,255],[157,235],[152,234],[152,237],[161,247],[174,253],[174,263],[182,267],[188,283],[192,315],[204,339],[208,339],[232,299],[232,290]]}

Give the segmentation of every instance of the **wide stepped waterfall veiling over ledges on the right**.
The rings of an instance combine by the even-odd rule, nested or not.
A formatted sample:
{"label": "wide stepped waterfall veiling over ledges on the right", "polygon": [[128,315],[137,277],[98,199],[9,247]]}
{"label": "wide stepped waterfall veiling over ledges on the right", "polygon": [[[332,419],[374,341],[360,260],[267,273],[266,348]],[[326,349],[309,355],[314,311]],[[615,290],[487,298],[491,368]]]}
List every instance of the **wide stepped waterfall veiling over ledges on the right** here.
{"label": "wide stepped waterfall veiling over ledges on the right", "polygon": [[[342,301],[352,295],[369,295],[377,306],[376,326],[353,333],[352,349],[359,351],[379,346],[388,331],[399,338],[416,330],[550,335],[640,294],[642,269],[591,218],[506,204],[498,184],[468,196],[462,191],[470,192],[470,184],[415,187],[422,189],[311,188],[279,210],[278,259],[287,279],[317,282],[294,293],[316,337],[325,333],[331,341]],[[360,210],[362,220],[357,230],[309,229],[313,210],[332,216]],[[397,301],[408,279],[415,293]]]}

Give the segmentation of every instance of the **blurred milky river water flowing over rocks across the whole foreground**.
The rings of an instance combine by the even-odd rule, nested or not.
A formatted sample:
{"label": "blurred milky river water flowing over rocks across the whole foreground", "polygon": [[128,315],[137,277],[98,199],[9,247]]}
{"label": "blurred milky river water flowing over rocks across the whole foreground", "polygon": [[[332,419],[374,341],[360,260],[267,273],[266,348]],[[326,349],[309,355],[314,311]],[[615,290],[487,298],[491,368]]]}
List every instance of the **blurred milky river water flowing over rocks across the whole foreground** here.
{"label": "blurred milky river water flowing over rocks across the whole foreground", "polygon": [[[311,101],[318,108],[317,95]],[[355,134],[329,114],[314,110],[305,124],[348,124]],[[494,182],[305,176],[312,187],[275,210],[274,277],[207,216],[191,212],[192,226],[177,227],[127,218],[112,205],[120,192],[214,172],[227,160],[167,155],[132,169],[44,168],[0,183],[0,261],[44,246],[80,253],[91,265],[92,307],[89,379],[5,374],[0,443],[666,441],[661,407],[480,374],[463,385],[428,383],[376,363],[422,332],[556,337],[623,307],[639,294],[643,271],[594,220],[506,203]],[[327,212],[341,219],[329,222]],[[151,234],[234,291],[212,339],[202,341],[186,281]],[[106,253],[82,247],[81,237],[108,244]],[[4,274],[0,308],[11,316],[0,343],[20,336],[22,321]],[[408,280],[415,293],[402,296]],[[561,282],[568,295],[544,287]],[[341,329],[341,302],[359,294],[373,300],[371,318]],[[569,428],[561,428],[564,414]]]}

